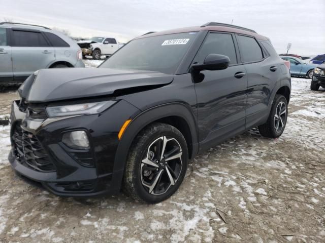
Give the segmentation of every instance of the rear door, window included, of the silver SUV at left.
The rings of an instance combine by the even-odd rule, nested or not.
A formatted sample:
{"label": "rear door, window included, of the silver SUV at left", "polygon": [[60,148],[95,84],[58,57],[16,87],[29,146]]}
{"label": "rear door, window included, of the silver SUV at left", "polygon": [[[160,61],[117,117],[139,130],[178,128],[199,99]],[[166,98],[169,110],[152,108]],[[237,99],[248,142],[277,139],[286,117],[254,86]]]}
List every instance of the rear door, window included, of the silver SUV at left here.
{"label": "rear door, window included, of the silver SUV at left", "polygon": [[36,70],[55,61],[54,48],[39,30],[12,29],[13,72],[16,81],[23,81]]}

